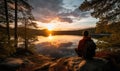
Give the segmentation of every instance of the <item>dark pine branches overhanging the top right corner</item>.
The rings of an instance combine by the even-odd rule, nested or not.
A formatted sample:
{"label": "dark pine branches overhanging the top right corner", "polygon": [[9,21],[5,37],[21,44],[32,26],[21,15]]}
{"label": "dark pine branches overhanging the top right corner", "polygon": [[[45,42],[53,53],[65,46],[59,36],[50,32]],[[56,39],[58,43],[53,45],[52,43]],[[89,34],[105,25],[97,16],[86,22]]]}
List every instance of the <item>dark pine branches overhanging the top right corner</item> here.
{"label": "dark pine branches overhanging the top right corner", "polygon": [[92,10],[91,15],[100,21],[117,22],[120,19],[119,0],[85,0],[79,8],[82,11]]}

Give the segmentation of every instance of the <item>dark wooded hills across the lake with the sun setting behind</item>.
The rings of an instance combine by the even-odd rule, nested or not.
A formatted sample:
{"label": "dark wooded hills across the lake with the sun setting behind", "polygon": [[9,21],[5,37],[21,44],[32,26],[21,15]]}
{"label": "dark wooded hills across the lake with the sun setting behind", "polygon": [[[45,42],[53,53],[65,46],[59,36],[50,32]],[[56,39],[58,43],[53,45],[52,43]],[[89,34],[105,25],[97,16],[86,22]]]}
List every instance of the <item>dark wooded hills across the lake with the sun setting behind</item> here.
{"label": "dark wooded hills across the lake with the sun setting behind", "polygon": [[[0,30],[2,31],[6,31],[6,28],[5,27],[2,27],[0,26]],[[14,33],[13,31],[14,29],[10,29],[11,31],[11,34]],[[18,28],[18,32],[19,34],[20,33],[23,33],[25,30],[24,27],[19,27]],[[43,29],[43,30],[38,30],[38,29],[30,29],[30,28],[27,28],[27,32],[28,33],[32,33],[32,34],[36,34],[36,35],[48,35],[48,34],[52,34],[52,35],[82,35],[82,32],[83,31],[89,31],[91,34],[94,34],[95,33],[95,28],[88,28],[88,29],[81,29],[81,30],[68,30],[68,31],[48,31],[47,29]]]}

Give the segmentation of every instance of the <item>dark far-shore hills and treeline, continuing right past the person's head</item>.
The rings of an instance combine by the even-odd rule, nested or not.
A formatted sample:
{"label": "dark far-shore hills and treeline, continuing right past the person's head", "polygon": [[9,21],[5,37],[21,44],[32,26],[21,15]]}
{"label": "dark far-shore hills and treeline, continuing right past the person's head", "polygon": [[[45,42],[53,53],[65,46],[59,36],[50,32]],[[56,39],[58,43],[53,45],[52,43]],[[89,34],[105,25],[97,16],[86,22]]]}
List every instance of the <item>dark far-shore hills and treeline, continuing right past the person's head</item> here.
{"label": "dark far-shore hills and treeline, continuing right past the person's head", "polygon": [[[2,31],[6,31],[5,27],[0,26],[0,30]],[[95,34],[96,28],[87,28],[87,29],[81,29],[81,30],[70,30],[70,31],[48,31],[47,29],[43,29],[43,30],[38,30],[38,29],[30,29],[27,28],[27,34],[31,34],[31,35],[36,35],[36,36],[49,36],[49,34],[52,35],[82,35],[83,31],[89,31],[90,35],[92,37],[95,38],[99,38],[99,37],[103,37],[104,35],[101,34]],[[10,29],[11,31],[11,35],[14,34],[14,29]],[[24,27],[19,27],[18,28],[18,36],[23,36],[25,28]]]}

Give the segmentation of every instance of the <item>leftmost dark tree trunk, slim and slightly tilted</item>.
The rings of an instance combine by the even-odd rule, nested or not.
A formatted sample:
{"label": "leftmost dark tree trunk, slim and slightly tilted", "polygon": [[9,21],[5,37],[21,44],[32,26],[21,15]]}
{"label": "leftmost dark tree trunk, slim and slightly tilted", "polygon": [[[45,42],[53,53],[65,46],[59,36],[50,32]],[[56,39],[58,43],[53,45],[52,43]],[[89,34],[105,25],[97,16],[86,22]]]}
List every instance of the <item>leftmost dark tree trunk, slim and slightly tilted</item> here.
{"label": "leftmost dark tree trunk, slim and slightly tilted", "polygon": [[5,5],[5,16],[6,16],[6,26],[7,26],[7,41],[8,45],[10,45],[10,27],[9,27],[9,18],[8,18],[8,5],[7,1],[4,0],[4,5]]}

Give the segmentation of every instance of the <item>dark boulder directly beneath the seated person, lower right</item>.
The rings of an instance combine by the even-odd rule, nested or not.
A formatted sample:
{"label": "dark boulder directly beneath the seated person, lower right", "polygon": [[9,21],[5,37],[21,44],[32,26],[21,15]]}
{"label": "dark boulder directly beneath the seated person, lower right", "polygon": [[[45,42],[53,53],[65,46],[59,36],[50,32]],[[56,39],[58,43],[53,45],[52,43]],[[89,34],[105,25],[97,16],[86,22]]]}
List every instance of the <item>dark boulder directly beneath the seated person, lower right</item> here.
{"label": "dark boulder directly beneath the seated person, lower right", "polygon": [[113,71],[109,61],[98,58],[81,61],[79,68],[79,71]]}

